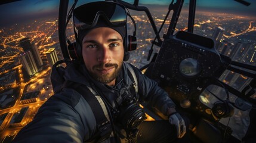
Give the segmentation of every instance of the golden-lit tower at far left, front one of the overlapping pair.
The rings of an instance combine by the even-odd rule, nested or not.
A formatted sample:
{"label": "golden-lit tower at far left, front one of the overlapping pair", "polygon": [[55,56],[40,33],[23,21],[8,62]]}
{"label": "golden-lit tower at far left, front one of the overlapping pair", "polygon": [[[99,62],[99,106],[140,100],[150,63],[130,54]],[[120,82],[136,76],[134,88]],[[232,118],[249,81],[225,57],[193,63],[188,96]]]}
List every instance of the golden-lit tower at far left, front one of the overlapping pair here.
{"label": "golden-lit tower at far left, front one of the overlapping pair", "polygon": [[29,76],[32,76],[33,74],[38,72],[38,67],[36,67],[35,60],[30,51],[20,54],[20,58],[21,63]]}

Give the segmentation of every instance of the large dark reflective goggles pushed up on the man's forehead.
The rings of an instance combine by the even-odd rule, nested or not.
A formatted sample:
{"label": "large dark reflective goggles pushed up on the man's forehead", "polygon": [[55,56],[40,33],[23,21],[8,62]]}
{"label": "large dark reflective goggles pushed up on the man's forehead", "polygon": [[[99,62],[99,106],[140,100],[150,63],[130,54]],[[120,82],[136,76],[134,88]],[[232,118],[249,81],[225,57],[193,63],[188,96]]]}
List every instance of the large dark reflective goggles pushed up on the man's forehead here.
{"label": "large dark reflective goggles pushed up on the man's forehead", "polygon": [[125,26],[127,12],[124,5],[106,1],[84,4],[73,11],[73,22],[77,30],[94,27],[100,18],[109,26]]}

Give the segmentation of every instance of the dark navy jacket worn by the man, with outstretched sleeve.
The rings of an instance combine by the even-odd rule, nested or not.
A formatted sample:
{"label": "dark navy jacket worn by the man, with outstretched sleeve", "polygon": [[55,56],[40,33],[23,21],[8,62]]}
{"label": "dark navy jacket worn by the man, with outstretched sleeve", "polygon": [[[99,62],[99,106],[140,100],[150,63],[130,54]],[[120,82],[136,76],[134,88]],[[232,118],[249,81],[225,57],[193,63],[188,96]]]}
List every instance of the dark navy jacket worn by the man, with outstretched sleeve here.
{"label": "dark navy jacket worn by the man, with outstretched sleeve", "polygon": [[[119,89],[129,88],[133,81],[127,76],[127,64],[123,64],[115,87],[95,81],[84,65],[74,63],[66,67],[64,79],[100,90],[115,108],[113,100],[118,96]],[[147,102],[165,115],[168,108],[175,107],[168,94],[154,80],[144,76],[136,67],[132,66],[132,69],[138,80],[139,101]],[[14,142],[84,142],[94,135],[95,130],[96,121],[88,102],[75,90],[64,88],[39,108],[35,118],[20,130]]]}

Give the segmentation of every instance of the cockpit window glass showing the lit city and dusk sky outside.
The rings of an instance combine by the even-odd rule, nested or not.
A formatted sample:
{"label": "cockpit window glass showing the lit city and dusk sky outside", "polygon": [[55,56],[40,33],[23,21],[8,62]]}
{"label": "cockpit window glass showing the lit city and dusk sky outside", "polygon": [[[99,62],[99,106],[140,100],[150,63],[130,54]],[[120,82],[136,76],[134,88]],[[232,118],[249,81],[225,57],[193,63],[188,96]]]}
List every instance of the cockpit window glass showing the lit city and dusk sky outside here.
{"label": "cockpit window glass showing the lit city and dusk sky outside", "polygon": [[[126,2],[133,4],[133,1]],[[149,8],[159,29],[170,2],[143,0],[139,5]],[[188,2],[184,2],[175,33],[187,30]],[[248,2],[251,3],[249,7],[236,1],[198,0],[194,33],[214,39],[217,51],[232,60],[256,66],[256,1]],[[0,141],[10,142],[54,94],[51,67],[62,60],[63,55],[58,41],[59,1],[24,0],[0,4]],[[81,4],[84,1],[78,2]],[[147,57],[156,35],[143,11],[129,11],[136,21],[138,44],[128,62],[141,68],[150,62]],[[171,15],[172,12],[159,34],[161,39],[168,30]],[[128,34],[132,35],[134,26],[130,19],[128,22]],[[71,42],[75,41],[72,20],[67,25],[66,35]],[[153,46],[154,52],[159,48]],[[251,81],[232,71],[225,71],[220,80],[239,91]],[[221,89],[212,86],[208,89],[226,98],[221,96]],[[216,101],[207,91],[201,98],[209,107]],[[248,128],[248,111],[237,110],[232,120],[230,126],[236,130],[233,134],[241,139]],[[225,125],[226,122],[223,121]]]}

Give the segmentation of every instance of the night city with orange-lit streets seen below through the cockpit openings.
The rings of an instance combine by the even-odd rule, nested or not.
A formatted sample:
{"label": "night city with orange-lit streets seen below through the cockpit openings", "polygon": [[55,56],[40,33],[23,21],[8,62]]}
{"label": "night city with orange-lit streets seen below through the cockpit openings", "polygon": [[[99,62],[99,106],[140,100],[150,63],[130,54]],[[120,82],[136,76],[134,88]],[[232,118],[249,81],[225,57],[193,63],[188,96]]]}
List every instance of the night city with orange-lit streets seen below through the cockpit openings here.
{"label": "night city with orange-lit streets seen below through the cockpit openings", "polygon": [[[159,28],[166,11],[151,11]],[[147,55],[155,38],[150,22],[144,13],[133,13],[137,27],[137,50],[129,61],[140,68],[149,63]],[[51,86],[51,67],[62,60],[58,42],[57,18],[44,18],[10,27],[0,27],[0,141],[10,142],[17,132],[35,116],[38,108],[54,95]],[[166,33],[166,21],[160,36]],[[134,31],[129,21],[128,32]],[[187,29],[187,15],[181,14],[176,30]],[[223,13],[198,12],[195,33],[212,38],[215,48],[234,61],[256,66],[256,17]],[[70,41],[75,41],[72,21],[66,30]],[[154,46],[154,52],[159,47]],[[225,71],[223,82],[242,90],[250,81],[248,77]],[[249,124],[248,112],[236,111],[233,117],[234,132],[242,138]],[[232,125],[231,125],[232,126]],[[242,128],[243,127],[243,128]],[[240,128],[240,130],[239,130]]]}

